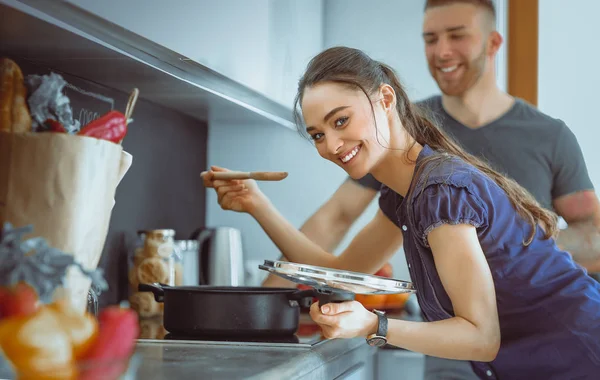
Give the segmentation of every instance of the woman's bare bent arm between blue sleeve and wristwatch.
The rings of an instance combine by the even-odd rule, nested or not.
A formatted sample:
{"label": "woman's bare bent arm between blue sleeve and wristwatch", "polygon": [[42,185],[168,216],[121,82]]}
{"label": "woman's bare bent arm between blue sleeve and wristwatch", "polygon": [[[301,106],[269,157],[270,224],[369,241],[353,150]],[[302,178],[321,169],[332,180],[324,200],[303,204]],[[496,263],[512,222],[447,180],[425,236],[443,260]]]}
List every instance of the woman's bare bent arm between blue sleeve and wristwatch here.
{"label": "woman's bare bent arm between blue sleeve and wristwatch", "polygon": [[444,224],[429,233],[428,241],[455,317],[390,321],[390,344],[448,359],[493,360],[500,348],[496,293],[475,227]]}

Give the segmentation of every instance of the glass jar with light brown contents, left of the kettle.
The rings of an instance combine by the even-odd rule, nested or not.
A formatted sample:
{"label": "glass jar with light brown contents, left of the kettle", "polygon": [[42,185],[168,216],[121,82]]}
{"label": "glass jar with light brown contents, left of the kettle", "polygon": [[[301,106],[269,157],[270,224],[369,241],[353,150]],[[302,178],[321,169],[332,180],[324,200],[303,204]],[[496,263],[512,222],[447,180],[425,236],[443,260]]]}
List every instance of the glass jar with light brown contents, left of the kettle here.
{"label": "glass jar with light brown contents, left of the kettle", "polygon": [[152,292],[138,291],[139,284],[176,285],[174,255],[175,231],[172,229],[138,231],[129,260],[129,303],[140,318],[162,316],[164,305]]}

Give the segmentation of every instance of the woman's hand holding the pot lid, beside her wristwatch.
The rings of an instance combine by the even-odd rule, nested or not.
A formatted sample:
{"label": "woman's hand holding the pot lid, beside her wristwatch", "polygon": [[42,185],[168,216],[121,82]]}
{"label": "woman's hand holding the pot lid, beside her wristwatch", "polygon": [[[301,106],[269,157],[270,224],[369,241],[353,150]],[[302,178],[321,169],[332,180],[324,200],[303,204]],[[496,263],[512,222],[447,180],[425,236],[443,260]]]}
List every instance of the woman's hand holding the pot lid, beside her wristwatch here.
{"label": "woman's hand holding the pot lid, beside her wristwatch", "polygon": [[377,315],[357,301],[328,303],[310,307],[310,317],[323,330],[326,338],[367,337],[377,332]]}

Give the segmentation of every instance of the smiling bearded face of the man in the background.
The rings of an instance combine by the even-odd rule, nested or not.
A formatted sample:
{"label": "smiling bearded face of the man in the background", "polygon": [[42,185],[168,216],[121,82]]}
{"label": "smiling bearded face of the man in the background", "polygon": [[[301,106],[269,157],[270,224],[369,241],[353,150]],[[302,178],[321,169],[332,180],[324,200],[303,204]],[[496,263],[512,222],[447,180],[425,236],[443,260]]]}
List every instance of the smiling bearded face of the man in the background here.
{"label": "smiling bearded face of the man in the background", "polygon": [[461,96],[484,74],[491,33],[488,17],[485,10],[461,3],[425,12],[425,55],[442,93]]}

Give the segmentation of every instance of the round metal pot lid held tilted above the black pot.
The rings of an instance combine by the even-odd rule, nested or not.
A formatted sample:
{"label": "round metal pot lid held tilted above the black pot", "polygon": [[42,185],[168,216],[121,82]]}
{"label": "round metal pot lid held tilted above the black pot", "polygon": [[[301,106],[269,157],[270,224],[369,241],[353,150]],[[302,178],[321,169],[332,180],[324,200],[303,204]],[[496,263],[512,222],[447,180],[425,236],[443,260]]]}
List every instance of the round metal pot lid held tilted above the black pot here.
{"label": "round metal pot lid held tilted above the black pot", "polygon": [[341,289],[355,294],[414,293],[411,282],[289,261],[265,260],[258,266],[286,280],[317,289]]}

